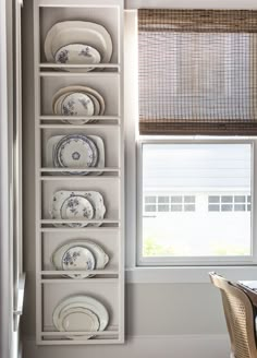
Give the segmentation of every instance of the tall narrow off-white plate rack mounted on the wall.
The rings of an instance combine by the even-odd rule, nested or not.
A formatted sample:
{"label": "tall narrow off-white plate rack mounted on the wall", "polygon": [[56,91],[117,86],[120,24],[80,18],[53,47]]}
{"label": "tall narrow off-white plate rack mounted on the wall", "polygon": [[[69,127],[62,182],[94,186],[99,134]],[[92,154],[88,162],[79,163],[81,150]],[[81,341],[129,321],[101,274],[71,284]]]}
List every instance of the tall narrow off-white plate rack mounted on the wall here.
{"label": "tall narrow off-white plate rack mounted on the wall", "polygon": [[[35,45],[35,155],[36,155],[36,334],[39,345],[119,344],[124,342],[124,154],[123,154],[123,0],[34,0]],[[113,52],[110,63],[94,65],[94,72],[83,72],[91,65],[66,65],[46,62],[44,43],[48,31],[60,21],[89,21],[103,25],[110,33]],[[77,72],[65,72],[66,68]],[[94,123],[64,123],[71,117],[54,116],[52,96],[69,85],[91,86],[106,103],[103,116],[94,116]],[[74,119],[74,117],[72,118]],[[83,117],[76,117],[76,120]],[[88,117],[87,117],[88,119]],[[71,175],[77,169],[47,166],[46,145],[53,135],[83,133],[102,138],[106,166],[86,168],[88,176]],[[85,169],[82,171],[85,171]],[[100,227],[56,227],[54,224],[85,223],[58,220],[50,217],[52,195],[58,190],[96,190],[105,199],[107,213]],[[90,223],[99,223],[89,220]],[[51,254],[68,240],[89,239],[110,256],[105,270],[95,270],[91,278],[62,276],[51,263]],[[69,272],[72,274],[72,272]],[[77,273],[77,272],[76,272]],[[87,272],[88,273],[88,272]],[[99,299],[108,309],[107,329],[95,332],[87,341],[74,341],[69,335],[93,332],[59,332],[52,322],[56,306],[73,295]]]}

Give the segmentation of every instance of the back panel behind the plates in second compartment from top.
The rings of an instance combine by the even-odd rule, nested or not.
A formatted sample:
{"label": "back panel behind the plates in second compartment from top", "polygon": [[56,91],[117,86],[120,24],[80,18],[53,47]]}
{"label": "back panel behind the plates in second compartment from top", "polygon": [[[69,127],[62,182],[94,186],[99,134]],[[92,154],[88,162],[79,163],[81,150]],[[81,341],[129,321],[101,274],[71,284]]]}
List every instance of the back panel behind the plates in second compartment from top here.
{"label": "back panel behind the plates in second compartment from top", "polygon": [[[117,73],[91,73],[79,75],[71,72],[44,72],[40,77],[41,116],[52,116],[54,94],[68,86],[86,86],[96,90],[105,99],[105,116],[120,116],[120,77]],[[110,91],[111,88],[111,91]],[[70,118],[71,119],[71,118]]]}

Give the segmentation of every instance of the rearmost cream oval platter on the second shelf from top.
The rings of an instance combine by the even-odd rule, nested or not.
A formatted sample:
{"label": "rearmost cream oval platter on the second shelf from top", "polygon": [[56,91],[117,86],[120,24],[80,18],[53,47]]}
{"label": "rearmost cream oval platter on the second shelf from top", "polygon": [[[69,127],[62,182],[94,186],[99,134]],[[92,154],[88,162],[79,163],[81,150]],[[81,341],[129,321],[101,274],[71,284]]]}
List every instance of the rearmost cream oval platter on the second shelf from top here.
{"label": "rearmost cream oval platter on the second shelf from top", "polygon": [[[53,114],[57,115],[57,112],[56,112],[56,102],[59,99],[59,97],[61,97],[62,95],[68,95],[70,93],[74,93],[74,92],[85,93],[86,95],[93,95],[100,104],[99,116],[102,116],[105,114],[106,104],[105,104],[103,97],[99,94],[99,92],[97,92],[94,88],[87,87],[87,86],[78,86],[78,85],[77,86],[62,87],[58,92],[54,93],[54,95],[52,97],[52,111],[53,111]],[[85,122],[87,120],[85,119]]]}

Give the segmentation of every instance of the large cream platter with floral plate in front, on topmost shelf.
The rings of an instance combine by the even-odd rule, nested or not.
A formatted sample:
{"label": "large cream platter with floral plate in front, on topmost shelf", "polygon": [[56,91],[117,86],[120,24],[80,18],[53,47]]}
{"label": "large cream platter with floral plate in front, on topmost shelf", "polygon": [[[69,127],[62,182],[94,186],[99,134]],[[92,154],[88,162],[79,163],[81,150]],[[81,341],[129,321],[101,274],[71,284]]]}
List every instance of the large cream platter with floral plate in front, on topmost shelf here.
{"label": "large cream platter with floral plate in front, on topmost shelf", "polygon": [[[112,40],[107,29],[99,24],[64,21],[53,25],[47,33],[45,55],[48,62],[56,63],[108,63],[112,55]],[[94,67],[65,70],[87,72],[94,70]]]}

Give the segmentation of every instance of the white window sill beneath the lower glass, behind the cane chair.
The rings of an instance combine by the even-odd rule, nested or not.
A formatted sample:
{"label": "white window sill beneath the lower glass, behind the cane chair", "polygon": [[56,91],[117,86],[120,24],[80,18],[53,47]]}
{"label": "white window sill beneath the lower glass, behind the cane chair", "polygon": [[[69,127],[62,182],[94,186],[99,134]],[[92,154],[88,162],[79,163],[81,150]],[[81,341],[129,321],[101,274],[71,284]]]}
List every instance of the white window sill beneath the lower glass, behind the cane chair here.
{"label": "white window sill beneath the lower glass, behind the cane chair", "polygon": [[254,266],[183,266],[127,267],[127,284],[208,284],[209,272],[217,272],[230,281],[257,281]]}

